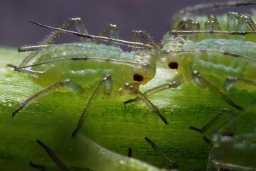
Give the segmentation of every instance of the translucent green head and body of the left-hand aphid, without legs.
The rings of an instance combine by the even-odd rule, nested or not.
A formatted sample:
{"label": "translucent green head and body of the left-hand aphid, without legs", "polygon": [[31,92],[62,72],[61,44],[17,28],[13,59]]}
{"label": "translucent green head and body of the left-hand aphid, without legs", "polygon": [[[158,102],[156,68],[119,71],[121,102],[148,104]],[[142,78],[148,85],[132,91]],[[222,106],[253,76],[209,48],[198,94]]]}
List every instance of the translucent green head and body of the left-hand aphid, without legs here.
{"label": "translucent green head and body of the left-hand aphid, without legs", "polygon": [[[138,88],[155,75],[155,58],[144,51],[124,52],[119,47],[98,45],[94,43],[69,43],[61,45],[47,45],[38,54],[34,64],[59,58],[84,57],[85,60],[66,60],[50,64],[32,66],[31,70],[41,72],[37,77],[31,77],[35,83],[48,87],[61,80],[69,79],[83,88],[94,88],[105,75],[110,75],[113,81],[113,91],[110,96],[123,94],[124,83],[130,83]],[[105,61],[86,61],[86,58],[103,58]],[[125,64],[108,63],[108,59],[116,61],[132,61],[146,64],[146,67],[128,66]],[[142,81],[134,79],[134,75],[141,75]]]}

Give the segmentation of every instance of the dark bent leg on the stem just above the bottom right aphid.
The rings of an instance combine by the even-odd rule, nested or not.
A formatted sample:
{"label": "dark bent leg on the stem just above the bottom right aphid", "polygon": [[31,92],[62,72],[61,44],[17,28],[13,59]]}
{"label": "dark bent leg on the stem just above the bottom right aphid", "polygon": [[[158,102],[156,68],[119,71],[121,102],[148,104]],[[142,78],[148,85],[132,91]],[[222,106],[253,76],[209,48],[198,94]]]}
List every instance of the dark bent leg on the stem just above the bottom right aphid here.
{"label": "dark bent leg on the stem just above the bottom right aphid", "polygon": [[192,129],[196,132],[200,132],[201,134],[206,133],[206,131],[211,128],[211,126],[214,125],[214,123],[216,123],[219,120],[219,117],[222,116],[223,114],[228,114],[230,115],[232,113],[232,110],[227,109],[227,108],[223,108],[222,110],[220,110],[217,115],[211,119],[211,121],[209,121],[208,123],[206,123],[205,126],[203,126],[201,129],[198,129],[195,126],[189,126],[189,129]]}

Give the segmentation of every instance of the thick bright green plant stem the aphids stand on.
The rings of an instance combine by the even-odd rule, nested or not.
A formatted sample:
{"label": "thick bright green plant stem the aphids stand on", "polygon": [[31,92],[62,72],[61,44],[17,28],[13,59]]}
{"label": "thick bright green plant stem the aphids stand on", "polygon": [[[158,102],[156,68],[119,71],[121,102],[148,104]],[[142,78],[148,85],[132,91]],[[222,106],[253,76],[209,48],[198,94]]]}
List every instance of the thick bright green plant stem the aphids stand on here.
{"label": "thick bright green plant stem the aphids stand on", "polygon": [[[135,159],[168,168],[170,164],[144,140],[147,136],[176,161],[179,170],[206,168],[211,145],[203,141],[203,135],[189,130],[189,126],[201,127],[222,107],[229,107],[215,94],[202,91],[195,83],[188,83],[150,96],[169,125],[162,123],[142,102],[124,105],[124,101],[134,96],[117,99],[99,96],[78,136],[71,138],[88,101],[71,92],[53,92],[15,118],[10,116],[24,100],[42,90],[26,75],[5,67],[6,64],[19,64],[25,56],[7,47],[0,49],[0,170],[36,170],[29,166],[30,161],[45,165],[48,170],[59,170],[36,140],[48,145],[70,170],[97,169],[97,165],[106,161],[91,156],[85,136],[124,156],[127,156],[128,148],[132,148]],[[166,83],[170,77],[170,72],[159,67],[157,76],[141,90],[146,91],[160,82]],[[227,95],[242,107],[256,97],[255,93],[247,91],[230,91]],[[235,133],[252,132],[255,116],[255,110],[252,110],[238,118]],[[218,123],[224,120],[225,117]],[[210,137],[211,130],[207,137]],[[124,170],[129,170],[129,166]]]}

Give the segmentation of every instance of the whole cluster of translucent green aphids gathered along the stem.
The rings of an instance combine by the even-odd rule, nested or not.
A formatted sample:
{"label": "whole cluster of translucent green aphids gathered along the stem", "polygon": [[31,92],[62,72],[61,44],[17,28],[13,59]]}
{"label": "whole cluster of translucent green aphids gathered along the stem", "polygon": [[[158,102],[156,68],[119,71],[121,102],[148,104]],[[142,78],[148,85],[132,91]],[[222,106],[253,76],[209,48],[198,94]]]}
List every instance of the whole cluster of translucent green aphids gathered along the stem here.
{"label": "whole cluster of translucent green aphids gathered along the stem", "polygon": [[[249,4],[256,4],[256,2],[228,1],[220,3],[219,6],[217,4],[209,4],[184,9],[177,13],[178,17],[181,18],[181,22],[176,26],[176,30],[167,32],[161,45],[157,45],[144,31],[133,32],[135,42],[117,39],[117,27],[113,25],[105,28],[99,36],[93,36],[88,34],[80,18],[68,20],[61,28],[36,23],[39,26],[53,29],[53,34],[50,34],[40,45],[21,47],[20,51],[32,52],[20,66],[11,64],[9,66],[14,67],[15,71],[26,73],[31,80],[45,89],[23,102],[12,113],[12,116],[27,107],[31,102],[52,91],[67,91],[68,89],[79,96],[91,96],[80,116],[78,125],[72,132],[72,137],[83,126],[86,115],[90,113],[91,107],[93,107],[99,94],[102,94],[105,98],[116,98],[125,93],[135,95],[135,99],[130,99],[125,103],[142,100],[153,113],[167,124],[168,121],[148,96],[167,88],[176,88],[192,80],[200,88],[208,89],[217,94],[220,99],[231,107],[239,110],[238,113],[244,113],[244,107],[233,102],[226,95],[226,92],[231,88],[255,91],[256,43],[243,40],[244,35],[256,34],[254,21],[247,15],[229,12],[227,14],[227,29],[223,31],[217,18],[214,15],[208,15],[206,28],[200,31],[199,24],[193,19],[187,19],[187,16],[189,16],[187,14],[214,7]],[[31,22],[35,23],[34,21]],[[78,32],[68,30],[74,24],[78,28]],[[61,45],[50,44],[50,42],[53,42],[54,39],[64,33],[77,35],[81,38],[81,42]],[[109,33],[110,37],[105,37]],[[202,40],[198,39],[200,35],[206,35],[206,37]],[[142,43],[142,39],[146,44]],[[120,47],[99,44],[102,41],[113,43],[113,45],[128,45],[133,47],[134,51],[125,52]],[[37,60],[34,61],[34,64],[29,64],[34,57],[37,57]],[[140,92],[140,85],[154,79],[157,61],[178,72],[178,76],[171,80],[170,83],[157,86],[144,93]],[[223,112],[225,112],[225,109],[220,111],[221,114]],[[192,127],[192,129],[204,133],[216,121],[214,119],[203,129],[195,127]],[[217,134],[214,135],[217,136]],[[234,139],[241,138],[249,143],[254,139],[255,134],[249,136],[247,140],[246,137],[248,136],[241,135],[234,137]],[[215,167],[241,170],[246,170],[247,167],[249,168],[248,170],[256,168],[255,165],[246,165],[244,163],[230,166],[224,162],[224,159],[220,159],[218,149],[222,149],[222,146],[224,146],[222,145],[222,142],[223,144],[225,143],[226,139],[224,139],[224,137],[221,137],[221,140],[213,140],[214,146],[211,151],[211,161],[213,161]],[[168,161],[174,163],[151,140],[147,137],[146,140],[154,150]],[[229,140],[230,143],[231,141],[234,144],[236,143],[233,140]],[[54,153],[48,150],[42,142],[39,140],[37,142],[45,148],[48,154],[50,153],[49,156],[56,158]],[[219,145],[219,148],[217,148],[217,145]],[[233,148],[233,150],[235,151],[236,149]],[[256,153],[255,148],[252,151]],[[129,153],[132,153],[132,151],[129,150]],[[244,155],[251,155],[251,153],[244,152]],[[62,166],[59,159],[53,159],[53,161],[61,165],[62,170],[66,170],[66,167]]]}

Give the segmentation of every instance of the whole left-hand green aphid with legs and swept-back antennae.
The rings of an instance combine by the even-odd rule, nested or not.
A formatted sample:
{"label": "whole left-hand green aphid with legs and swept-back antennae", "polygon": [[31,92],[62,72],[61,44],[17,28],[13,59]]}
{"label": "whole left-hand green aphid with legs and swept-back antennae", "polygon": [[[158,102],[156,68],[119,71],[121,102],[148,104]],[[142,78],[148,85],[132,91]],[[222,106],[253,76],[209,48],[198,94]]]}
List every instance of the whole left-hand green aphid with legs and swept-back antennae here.
{"label": "whole left-hand green aphid with legs and swept-back antennae", "polygon": [[[89,35],[80,18],[73,18],[67,21],[60,29],[67,29],[74,23],[78,31],[81,31],[83,34],[83,37],[81,37],[83,42],[61,45],[48,44],[62,34],[61,31],[55,31],[41,45],[21,47],[19,51],[34,51],[30,53],[20,66],[8,65],[14,67],[15,71],[26,73],[34,83],[45,88],[23,102],[12,113],[12,116],[27,107],[31,102],[52,91],[67,91],[68,89],[79,96],[89,96],[92,93],[86,109],[78,121],[78,126],[72,132],[72,137],[83,126],[86,115],[91,110],[99,94],[103,94],[105,98],[116,98],[125,93],[138,96],[167,124],[165,117],[159,113],[157,107],[138,90],[141,84],[146,84],[148,80],[154,77],[156,56],[148,53],[146,50],[124,52],[120,47],[86,42],[84,37],[134,47],[142,46],[147,48],[151,47],[151,45],[144,45],[140,42],[127,42],[111,37]],[[113,31],[113,28],[108,29]],[[80,35],[78,32],[75,32],[75,34]],[[35,56],[38,56],[37,61],[34,64],[27,65]],[[31,69],[27,69],[29,67]],[[92,92],[92,90],[94,91]]]}

